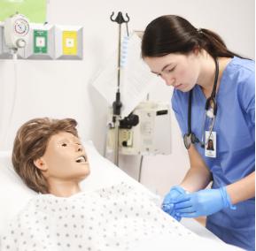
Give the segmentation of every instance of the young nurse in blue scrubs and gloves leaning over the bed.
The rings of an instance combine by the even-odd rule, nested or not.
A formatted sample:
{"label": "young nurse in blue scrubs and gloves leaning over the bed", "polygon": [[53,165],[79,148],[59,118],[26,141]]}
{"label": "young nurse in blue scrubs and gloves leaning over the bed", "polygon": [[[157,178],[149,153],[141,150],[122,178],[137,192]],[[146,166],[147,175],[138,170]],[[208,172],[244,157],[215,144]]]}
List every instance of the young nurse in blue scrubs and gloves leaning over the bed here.
{"label": "young nurse in blue scrubs and gloves leaning over the bed", "polygon": [[254,250],[254,61],[175,15],[146,27],[142,57],[175,87],[172,107],[190,158],[190,170],[162,208],[178,220],[206,216],[206,228],[221,240]]}

